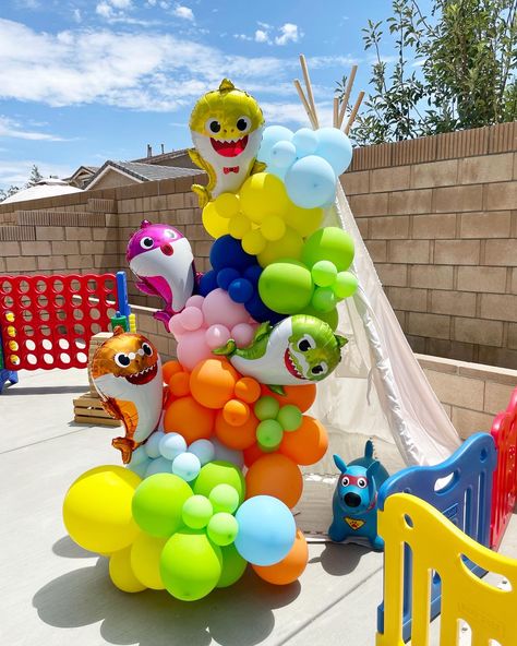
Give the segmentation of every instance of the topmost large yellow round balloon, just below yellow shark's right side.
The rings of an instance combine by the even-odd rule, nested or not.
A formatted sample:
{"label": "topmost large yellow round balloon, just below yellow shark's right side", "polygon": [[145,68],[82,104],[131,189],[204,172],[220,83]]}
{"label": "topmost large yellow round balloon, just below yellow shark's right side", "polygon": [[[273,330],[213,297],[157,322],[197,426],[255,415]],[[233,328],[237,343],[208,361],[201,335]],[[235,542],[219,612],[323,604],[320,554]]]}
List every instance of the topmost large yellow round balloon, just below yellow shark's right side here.
{"label": "topmost large yellow round balloon, just below yellow shark's right side", "polygon": [[250,176],[240,192],[241,212],[254,223],[270,215],[281,217],[287,210],[288,198],[284,182],[275,175],[257,172]]}

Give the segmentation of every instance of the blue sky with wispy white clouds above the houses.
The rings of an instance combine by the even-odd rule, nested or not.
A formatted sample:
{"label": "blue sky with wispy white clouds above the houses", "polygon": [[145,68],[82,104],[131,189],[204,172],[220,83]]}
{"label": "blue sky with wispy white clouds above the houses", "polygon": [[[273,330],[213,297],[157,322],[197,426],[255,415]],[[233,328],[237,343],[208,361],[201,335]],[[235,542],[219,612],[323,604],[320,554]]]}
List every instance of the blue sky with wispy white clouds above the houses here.
{"label": "blue sky with wispy white clouds above the houses", "polygon": [[[195,100],[224,76],[255,96],[267,122],[305,118],[292,86],[308,59],[321,120],[336,80],[371,55],[361,28],[389,0],[3,0],[0,4],[0,188],[37,164],[64,177],[81,165],[191,144]],[[421,3],[424,9],[429,4]],[[382,52],[389,57],[390,48]]]}

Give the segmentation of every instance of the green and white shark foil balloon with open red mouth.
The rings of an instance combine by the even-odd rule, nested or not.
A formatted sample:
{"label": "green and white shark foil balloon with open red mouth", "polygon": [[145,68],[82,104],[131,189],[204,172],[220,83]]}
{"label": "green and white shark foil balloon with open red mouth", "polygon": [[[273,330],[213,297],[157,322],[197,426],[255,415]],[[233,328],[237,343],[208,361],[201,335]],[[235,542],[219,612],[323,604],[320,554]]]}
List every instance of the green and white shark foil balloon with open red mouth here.
{"label": "green and white shark foil balloon with open red mouth", "polygon": [[346,343],[324,321],[294,314],[274,327],[263,323],[247,348],[237,348],[230,339],[214,352],[228,356],[241,374],[282,392],[281,386],[303,385],[328,376],[339,363]]}

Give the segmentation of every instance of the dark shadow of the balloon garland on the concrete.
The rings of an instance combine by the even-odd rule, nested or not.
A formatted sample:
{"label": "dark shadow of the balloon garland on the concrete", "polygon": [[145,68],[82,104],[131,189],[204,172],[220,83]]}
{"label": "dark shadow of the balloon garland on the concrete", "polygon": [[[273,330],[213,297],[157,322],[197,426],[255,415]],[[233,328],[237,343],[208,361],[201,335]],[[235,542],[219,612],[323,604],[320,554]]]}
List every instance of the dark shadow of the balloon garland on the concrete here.
{"label": "dark shadow of the balloon garland on the concrete", "polygon": [[300,589],[298,582],[270,586],[249,570],[233,586],[192,603],[165,590],[130,595],[111,584],[108,561],[101,558],[45,585],[33,606],[45,623],[60,629],[101,622],[100,634],[110,644],[205,646],[214,639],[223,646],[253,646],[272,633],[273,610],[291,603]]}

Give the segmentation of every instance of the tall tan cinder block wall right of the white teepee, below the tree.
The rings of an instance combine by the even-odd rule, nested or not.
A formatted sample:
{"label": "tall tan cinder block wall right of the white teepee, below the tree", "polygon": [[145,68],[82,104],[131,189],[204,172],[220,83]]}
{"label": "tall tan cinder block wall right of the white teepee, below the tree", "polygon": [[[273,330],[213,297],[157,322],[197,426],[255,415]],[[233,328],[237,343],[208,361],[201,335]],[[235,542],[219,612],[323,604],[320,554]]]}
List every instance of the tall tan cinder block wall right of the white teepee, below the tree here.
{"label": "tall tan cinder block wall right of the white teepee, below the tree", "polygon": [[517,123],[358,149],[342,184],[412,348],[517,368]]}

